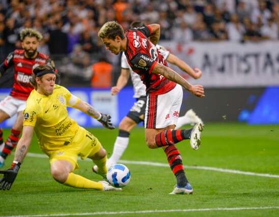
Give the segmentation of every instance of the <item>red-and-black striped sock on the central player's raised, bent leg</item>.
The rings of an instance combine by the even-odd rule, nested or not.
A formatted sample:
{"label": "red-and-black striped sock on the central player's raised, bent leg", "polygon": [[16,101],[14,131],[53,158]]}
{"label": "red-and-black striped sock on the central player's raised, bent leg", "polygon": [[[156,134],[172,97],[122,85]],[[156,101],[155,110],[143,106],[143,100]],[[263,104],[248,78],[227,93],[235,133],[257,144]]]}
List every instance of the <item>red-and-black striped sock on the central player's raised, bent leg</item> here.
{"label": "red-and-black striped sock on the central player's raised, bent leg", "polygon": [[190,130],[165,130],[155,136],[155,142],[158,147],[174,145],[184,139],[190,139]]}

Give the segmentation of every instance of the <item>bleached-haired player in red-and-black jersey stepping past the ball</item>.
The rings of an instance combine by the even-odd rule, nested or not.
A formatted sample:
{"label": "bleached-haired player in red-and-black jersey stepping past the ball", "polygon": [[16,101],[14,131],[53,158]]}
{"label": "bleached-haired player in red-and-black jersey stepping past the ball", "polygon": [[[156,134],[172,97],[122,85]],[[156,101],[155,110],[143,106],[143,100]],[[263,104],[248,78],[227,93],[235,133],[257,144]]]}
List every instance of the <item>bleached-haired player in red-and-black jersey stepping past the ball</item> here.
{"label": "bleached-haired player in red-and-black jersey stepping past the ball", "polygon": [[[175,144],[190,139],[192,148],[198,149],[203,124],[189,130],[174,130],[182,103],[183,86],[197,97],[204,97],[202,85],[191,85],[178,73],[167,67],[166,60],[156,48],[160,25],[151,24],[125,32],[115,21],[106,22],[98,36],[114,54],[125,53],[131,69],[146,85],[145,137],[149,148],[163,147],[170,167],[177,179],[171,194],[191,194],[179,150]],[[177,85],[180,84],[180,85]]]}

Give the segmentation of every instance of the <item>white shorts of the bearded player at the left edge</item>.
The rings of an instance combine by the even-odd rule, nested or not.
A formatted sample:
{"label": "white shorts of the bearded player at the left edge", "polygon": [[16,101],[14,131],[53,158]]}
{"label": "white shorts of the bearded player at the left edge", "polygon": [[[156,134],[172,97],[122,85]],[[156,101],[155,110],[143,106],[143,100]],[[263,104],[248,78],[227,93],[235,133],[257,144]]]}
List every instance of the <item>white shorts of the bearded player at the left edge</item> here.
{"label": "white shorts of the bearded player at the left edge", "polygon": [[25,100],[19,100],[11,96],[6,97],[0,102],[0,110],[6,112],[10,117],[20,111],[23,111],[25,106]]}

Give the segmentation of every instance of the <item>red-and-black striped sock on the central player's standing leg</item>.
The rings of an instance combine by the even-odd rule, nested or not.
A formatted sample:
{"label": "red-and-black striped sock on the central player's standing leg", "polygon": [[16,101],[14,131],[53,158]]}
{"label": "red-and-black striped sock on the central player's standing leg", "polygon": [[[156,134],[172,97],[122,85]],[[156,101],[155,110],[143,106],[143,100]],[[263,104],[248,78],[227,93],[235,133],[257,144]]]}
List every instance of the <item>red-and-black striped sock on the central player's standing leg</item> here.
{"label": "red-and-black striped sock on the central player's standing leg", "polygon": [[164,149],[166,157],[168,158],[169,165],[174,175],[176,176],[177,185],[184,187],[188,180],[185,176],[184,167],[182,164],[182,158],[179,150],[175,145],[170,145]]}

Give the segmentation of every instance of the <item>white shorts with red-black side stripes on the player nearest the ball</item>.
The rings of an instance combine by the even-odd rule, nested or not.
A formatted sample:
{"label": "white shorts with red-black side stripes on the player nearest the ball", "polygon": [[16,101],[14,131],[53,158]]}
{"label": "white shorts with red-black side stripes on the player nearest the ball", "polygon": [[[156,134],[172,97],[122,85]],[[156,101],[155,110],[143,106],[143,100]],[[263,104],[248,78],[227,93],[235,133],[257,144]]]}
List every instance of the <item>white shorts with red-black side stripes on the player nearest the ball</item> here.
{"label": "white shorts with red-black side stripes on the player nearest the ball", "polygon": [[183,90],[177,84],[162,95],[148,95],[145,110],[145,128],[160,129],[176,125],[182,104]]}

